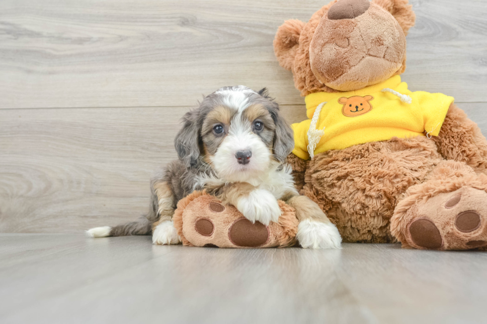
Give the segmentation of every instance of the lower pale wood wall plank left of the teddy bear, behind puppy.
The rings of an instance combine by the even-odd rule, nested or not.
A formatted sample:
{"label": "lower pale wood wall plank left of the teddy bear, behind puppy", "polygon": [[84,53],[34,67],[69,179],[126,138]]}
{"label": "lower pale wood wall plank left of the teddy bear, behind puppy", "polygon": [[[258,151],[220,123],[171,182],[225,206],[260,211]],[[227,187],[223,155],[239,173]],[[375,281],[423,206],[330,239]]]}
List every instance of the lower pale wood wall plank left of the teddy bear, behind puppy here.
{"label": "lower pale wood wall plank left of the teddy bear, behind puppy", "polygon": [[[147,212],[190,107],[0,110],[0,232],[73,233]],[[283,106],[289,123],[304,106]]]}

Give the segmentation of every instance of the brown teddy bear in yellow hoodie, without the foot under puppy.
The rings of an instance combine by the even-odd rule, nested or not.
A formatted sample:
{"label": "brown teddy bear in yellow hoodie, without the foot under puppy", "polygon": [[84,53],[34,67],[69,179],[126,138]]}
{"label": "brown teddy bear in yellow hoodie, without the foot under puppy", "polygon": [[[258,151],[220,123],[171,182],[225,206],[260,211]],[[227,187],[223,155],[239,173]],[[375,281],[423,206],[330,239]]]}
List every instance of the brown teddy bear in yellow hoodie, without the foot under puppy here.
{"label": "brown teddy bear in yellow hoodie, without the foot under puppy", "polygon": [[441,93],[411,92],[407,0],[333,0],[274,39],[308,119],[288,156],[343,242],[487,249],[487,141]]}

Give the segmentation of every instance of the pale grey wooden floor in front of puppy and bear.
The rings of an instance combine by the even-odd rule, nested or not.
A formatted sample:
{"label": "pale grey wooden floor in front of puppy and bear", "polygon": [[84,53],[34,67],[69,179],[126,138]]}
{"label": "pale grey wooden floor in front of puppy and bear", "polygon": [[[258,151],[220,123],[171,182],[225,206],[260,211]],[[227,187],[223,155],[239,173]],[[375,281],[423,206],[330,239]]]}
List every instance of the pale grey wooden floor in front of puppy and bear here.
{"label": "pale grey wooden floor in front of puppy and bear", "polygon": [[0,323],[486,323],[487,254],[0,235]]}

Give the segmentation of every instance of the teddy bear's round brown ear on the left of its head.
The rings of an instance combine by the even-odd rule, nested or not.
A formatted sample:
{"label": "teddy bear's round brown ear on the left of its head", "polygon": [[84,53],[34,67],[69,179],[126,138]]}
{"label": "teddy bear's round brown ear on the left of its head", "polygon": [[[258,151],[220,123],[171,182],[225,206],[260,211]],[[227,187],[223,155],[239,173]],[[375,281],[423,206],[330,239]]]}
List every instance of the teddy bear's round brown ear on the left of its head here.
{"label": "teddy bear's round brown ear on the left of its head", "polygon": [[299,36],[305,23],[291,19],[286,20],[278,29],[274,38],[274,53],[279,65],[287,70],[293,67],[294,57],[299,45]]}

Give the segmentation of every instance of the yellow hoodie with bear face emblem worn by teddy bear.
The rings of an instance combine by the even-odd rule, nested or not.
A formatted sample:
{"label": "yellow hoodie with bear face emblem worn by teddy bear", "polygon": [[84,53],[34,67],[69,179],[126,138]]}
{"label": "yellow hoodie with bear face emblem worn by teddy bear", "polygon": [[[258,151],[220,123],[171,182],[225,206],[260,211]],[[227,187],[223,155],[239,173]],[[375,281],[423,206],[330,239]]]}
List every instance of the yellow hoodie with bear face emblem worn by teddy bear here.
{"label": "yellow hoodie with bear face emblem worn by teddy bear", "polygon": [[[292,125],[293,153],[306,160],[310,152],[340,150],[392,137],[438,136],[453,101],[441,93],[411,92],[399,75],[356,91],[312,93],[305,98],[309,120]],[[317,111],[322,103],[321,111]]]}

